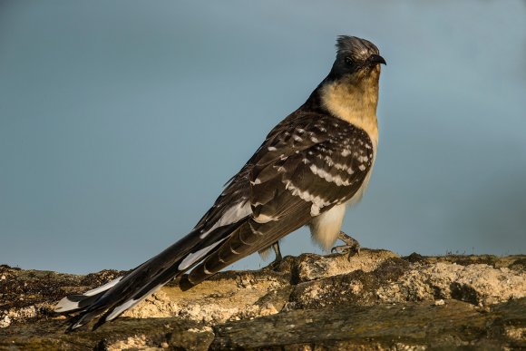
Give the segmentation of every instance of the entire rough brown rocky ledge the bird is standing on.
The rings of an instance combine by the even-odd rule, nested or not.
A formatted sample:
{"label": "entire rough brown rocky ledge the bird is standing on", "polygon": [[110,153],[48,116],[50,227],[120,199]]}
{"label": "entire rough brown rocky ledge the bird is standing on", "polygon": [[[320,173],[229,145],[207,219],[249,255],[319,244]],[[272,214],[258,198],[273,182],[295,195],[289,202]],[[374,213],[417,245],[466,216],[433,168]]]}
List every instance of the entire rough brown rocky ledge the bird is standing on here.
{"label": "entire rough brown rocky ledge the bird is standing on", "polygon": [[125,272],[0,266],[2,349],[502,349],[526,347],[526,256],[287,257],[174,282],[112,323],[65,334],[54,303]]}

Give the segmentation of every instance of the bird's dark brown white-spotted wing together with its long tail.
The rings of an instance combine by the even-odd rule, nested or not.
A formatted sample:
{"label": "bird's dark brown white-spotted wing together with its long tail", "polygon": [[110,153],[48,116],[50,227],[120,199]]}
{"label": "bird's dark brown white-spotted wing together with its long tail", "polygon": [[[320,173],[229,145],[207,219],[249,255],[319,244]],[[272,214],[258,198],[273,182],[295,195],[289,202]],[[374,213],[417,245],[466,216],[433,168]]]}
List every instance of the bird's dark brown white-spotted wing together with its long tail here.
{"label": "bird's dark brown white-spotted wing together with its long tail", "polygon": [[56,310],[81,312],[71,329],[107,310],[98,327],[196,265],[189,280],[198,283],[351,199],[372,160],[364,131],[323,113],[297,112],[268,134],[190,234],[106,287],[64,297]]}

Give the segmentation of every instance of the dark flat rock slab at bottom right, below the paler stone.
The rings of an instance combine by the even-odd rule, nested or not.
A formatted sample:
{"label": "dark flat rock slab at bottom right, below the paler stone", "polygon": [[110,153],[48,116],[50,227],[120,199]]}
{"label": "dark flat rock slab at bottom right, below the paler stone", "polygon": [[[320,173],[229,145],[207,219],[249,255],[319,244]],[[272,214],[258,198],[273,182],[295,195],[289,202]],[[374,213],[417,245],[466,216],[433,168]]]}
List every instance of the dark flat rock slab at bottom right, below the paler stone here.
{"label": "dark flat rock slab at bottom right, below the paler stone", "polygon": [[[515,317],[520,313],[519,321]],[[500,319],[502,316],[506,317]],[[524,299],[498,305],[489,313],[480,313],[471,304],[457,300],[441,307],[409,302],[298,309],[219,325],[211,346],[213,349],[286,346],[286,349],[331,350],[515,347],[526,344],[525,316]]]}

